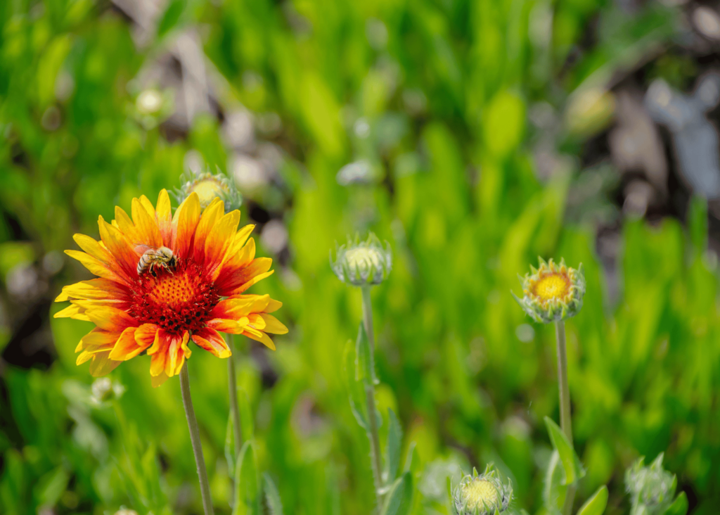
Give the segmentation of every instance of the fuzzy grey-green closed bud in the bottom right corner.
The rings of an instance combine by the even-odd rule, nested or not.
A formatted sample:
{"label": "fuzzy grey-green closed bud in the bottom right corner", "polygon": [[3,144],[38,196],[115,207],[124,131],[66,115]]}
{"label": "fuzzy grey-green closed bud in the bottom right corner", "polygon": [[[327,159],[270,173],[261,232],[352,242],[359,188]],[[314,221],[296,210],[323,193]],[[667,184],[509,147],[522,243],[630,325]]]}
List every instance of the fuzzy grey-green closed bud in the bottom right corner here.
{"label": "fuzzy grey-green closed bud in the bottom right corner", "polygon": [[672,503],[678,479],[662,468],[663,453],[649,467],[644,467],[645,458],[636,460],[625,471],[625,488],[631,497],[631,515],[660,515]]}

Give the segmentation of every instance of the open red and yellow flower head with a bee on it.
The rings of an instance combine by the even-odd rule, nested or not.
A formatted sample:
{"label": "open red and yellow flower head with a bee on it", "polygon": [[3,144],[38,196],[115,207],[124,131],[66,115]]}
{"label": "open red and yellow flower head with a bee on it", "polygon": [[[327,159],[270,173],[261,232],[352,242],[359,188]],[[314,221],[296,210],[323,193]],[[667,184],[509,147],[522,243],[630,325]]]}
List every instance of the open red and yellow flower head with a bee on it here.
{"label": "open red and yellow flower head with a bee on it", "polygon": [[55,299],[71,303],[55,318],[96,325],[76,348],[77,364],[91,361],[91,375],[100,377],[146,353],[158,386],[179,374],[190,341],[220,358],[230,356],[221,332],[275,349],[268,333],[287,328],[270,313],[282,303],[244,295],[273,273],[272,260],[255,256],[253,225],[238,230],[240,212],[224,207],[215,199],[202,210],[192,192],[172,215],[163,189],[156,206],[143,196],[132,200],[130,216],[116,207],[111,223],[100,217],[101,241],[73,237],[83,251],[66,254],[98,276],[63,287]]}

